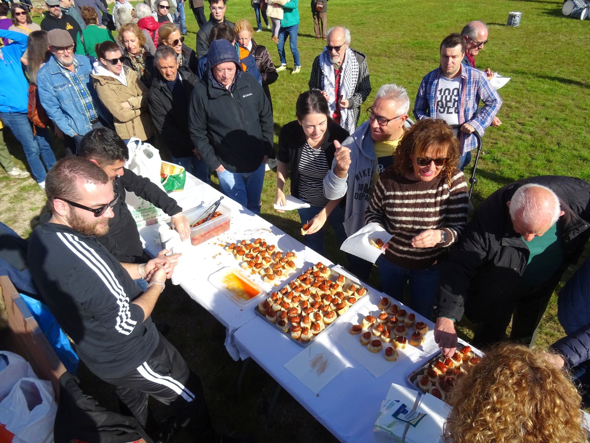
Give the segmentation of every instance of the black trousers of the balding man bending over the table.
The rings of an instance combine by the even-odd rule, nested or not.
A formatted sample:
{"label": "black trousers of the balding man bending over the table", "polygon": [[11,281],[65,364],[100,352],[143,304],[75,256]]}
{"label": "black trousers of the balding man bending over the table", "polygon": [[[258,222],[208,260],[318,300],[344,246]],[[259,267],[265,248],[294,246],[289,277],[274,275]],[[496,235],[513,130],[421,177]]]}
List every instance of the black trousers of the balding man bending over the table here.
{"label": "black trousers of the balding man bending over the table", "polygon": [[494,301],[494,306],[488,310],[489,315],[477,324],[472,341],[474,346],[485,347],[505,340],[511,318],[510,341],[527,346],[535,344],[537,327],[560,277],[553,276],[537,286],[517,286],[510,297]]}

